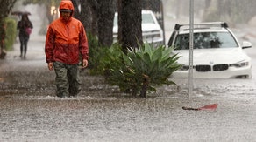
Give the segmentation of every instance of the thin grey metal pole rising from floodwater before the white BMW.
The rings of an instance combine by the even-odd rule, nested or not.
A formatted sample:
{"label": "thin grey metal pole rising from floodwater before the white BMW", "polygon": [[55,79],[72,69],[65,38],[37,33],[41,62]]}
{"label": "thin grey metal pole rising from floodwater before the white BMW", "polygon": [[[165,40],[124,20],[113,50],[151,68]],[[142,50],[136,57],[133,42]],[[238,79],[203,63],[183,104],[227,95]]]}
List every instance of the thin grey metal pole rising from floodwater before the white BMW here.
{"label": "thin grey metal pole rising from floodwater before the white BMW", "polygon": [[193,93],[193,47],[194,47],[194,0],[189,6],[189,72],[188,72],[188,98]]}

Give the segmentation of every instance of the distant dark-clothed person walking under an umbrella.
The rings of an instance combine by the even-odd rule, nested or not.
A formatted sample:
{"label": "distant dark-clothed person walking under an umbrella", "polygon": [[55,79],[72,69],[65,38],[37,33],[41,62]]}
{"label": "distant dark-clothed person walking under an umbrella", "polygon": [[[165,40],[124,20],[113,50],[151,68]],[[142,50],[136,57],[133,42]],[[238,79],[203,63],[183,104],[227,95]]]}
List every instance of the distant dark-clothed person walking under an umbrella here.
{"label": "distant dark-clothed person walking under an umbrella", "polygon": [[19,30],[18,37],[20,42],[20,56],[24,57],[27,51],[27,43],[32,32],[32,22],[29,20],[27,14],[23,14],[21,20],[18,21],[17,29]]}

